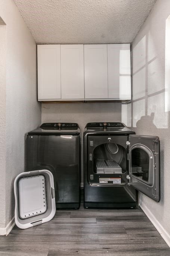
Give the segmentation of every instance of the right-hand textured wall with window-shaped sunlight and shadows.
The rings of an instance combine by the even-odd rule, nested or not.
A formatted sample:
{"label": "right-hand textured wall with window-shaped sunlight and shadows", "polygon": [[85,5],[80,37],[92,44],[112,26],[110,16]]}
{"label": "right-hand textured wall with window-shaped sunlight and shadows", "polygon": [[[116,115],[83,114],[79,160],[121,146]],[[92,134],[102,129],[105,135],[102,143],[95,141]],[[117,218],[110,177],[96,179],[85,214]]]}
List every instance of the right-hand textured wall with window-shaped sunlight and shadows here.
{"label": "right-hand textured wall with window-shaped sunlight and shadows", "polygon": [[133,101],[128,108],[137,134],[160,137],[161,200],[156,203],[140,194],[139,203],[170,246],[170,112],[165,112],[165,25],[169,15],[170,1],[158,0],[133,41]]}

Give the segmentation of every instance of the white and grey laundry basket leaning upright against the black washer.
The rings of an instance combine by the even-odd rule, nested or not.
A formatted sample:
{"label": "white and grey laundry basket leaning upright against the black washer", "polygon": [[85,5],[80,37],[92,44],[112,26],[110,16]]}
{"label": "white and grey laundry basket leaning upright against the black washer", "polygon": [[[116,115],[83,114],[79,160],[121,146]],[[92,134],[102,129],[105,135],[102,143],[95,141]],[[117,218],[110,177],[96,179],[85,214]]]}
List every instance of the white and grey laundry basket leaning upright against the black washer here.
{"label": "white and grey laundry basket leaning upright against the black washer", "polygon": [[26,229],[51,220],[56,212],[53,175],[48,170],[22,172],[14,181],[15,223]]}

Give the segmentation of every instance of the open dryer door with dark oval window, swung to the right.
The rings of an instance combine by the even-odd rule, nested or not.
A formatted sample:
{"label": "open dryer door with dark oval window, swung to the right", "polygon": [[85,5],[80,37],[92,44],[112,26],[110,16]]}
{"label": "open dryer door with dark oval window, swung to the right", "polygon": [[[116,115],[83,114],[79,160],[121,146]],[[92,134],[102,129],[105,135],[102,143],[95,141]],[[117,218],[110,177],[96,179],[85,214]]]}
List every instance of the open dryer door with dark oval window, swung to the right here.
{"label": "open dryer door with dark oval window, swung to the right", "polygon": [[160,201],[160,143],[157,136],[129,135],[129,183]]}

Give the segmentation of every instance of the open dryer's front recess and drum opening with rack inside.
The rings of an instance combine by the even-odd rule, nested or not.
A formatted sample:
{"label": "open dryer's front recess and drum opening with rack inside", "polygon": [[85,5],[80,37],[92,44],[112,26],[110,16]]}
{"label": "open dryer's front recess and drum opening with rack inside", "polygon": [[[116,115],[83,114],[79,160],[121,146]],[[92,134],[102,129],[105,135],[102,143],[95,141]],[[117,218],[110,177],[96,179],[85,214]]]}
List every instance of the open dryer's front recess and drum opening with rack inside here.
{"label": "open dryer's front recess and drum opening with rack inside", "polygon": [[88,136],[89,184],[128,184],[127,139],[127,136]]}

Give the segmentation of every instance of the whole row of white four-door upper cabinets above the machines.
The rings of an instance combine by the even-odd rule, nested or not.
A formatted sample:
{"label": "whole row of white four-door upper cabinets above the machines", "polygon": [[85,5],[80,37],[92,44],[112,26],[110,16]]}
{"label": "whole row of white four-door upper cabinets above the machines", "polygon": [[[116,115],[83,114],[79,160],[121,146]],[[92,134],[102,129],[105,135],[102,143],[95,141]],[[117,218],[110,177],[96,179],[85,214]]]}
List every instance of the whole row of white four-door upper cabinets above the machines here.
{"label": "whole row of white four-door upper cabinets above the machines", "polygon": [[37,45],[38,100],[130,100],[130,44]]}

